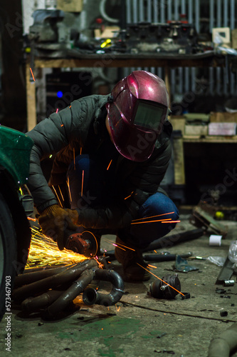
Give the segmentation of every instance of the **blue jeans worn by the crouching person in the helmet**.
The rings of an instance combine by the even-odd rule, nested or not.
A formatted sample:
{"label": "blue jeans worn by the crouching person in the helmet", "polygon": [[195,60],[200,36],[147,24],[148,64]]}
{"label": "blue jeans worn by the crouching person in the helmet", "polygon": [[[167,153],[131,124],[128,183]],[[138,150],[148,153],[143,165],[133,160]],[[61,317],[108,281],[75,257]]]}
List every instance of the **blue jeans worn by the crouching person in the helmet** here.
{"label": "blue jeans worn by the crouching person in the helmet", "polygon": [[[107,170],[106,162],[98,164],[98,160],[93,156],[77,156],[68,168],[71,208],[81,209],[85,206],[95,207],[110,203],[114,193],[115,166],[115,163],[111,163],[110,170]],[[146,217],[147,219],[144,219]],[[174,202],[164,193],[157,192],[140,206],[137,219],[132,221],[129,227],[117,231],[93,229],[93,232],[98,235],[117,234],[122,241],[145,248],[152,241],[169,233],[176,226],[175,222],[169,221],[177,219],[179,212]],[[148,220],[149,223],[140,223]]]}

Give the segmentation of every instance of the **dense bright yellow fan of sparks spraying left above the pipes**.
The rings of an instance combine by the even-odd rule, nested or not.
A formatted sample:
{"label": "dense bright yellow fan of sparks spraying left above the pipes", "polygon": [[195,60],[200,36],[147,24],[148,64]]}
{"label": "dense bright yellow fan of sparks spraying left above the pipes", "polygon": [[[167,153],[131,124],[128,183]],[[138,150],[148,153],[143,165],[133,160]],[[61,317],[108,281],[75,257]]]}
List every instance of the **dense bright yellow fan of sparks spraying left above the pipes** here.
{"label": "dense bright yellow fan of sparks spraying left above the pipes", "polygon": [[60,251],[57,243],[38,231],[37,227],[31,228],[31,232],[31,248],[26,268],[79,263],[87,259],[85,256],[67,249]]}

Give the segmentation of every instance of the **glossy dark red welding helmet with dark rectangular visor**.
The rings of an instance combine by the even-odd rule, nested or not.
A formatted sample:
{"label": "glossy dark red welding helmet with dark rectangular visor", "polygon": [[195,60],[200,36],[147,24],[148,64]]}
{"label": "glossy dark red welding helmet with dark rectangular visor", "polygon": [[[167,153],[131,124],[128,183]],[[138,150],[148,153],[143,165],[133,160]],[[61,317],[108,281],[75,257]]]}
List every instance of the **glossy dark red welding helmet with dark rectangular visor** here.
{"label": "glossy dark red welding helmet with dark rectangular visor", "polygon": [[133,71],[115,85],[105,106],[117,151],[132,161],[149,159],[169,111],[164,81]]}

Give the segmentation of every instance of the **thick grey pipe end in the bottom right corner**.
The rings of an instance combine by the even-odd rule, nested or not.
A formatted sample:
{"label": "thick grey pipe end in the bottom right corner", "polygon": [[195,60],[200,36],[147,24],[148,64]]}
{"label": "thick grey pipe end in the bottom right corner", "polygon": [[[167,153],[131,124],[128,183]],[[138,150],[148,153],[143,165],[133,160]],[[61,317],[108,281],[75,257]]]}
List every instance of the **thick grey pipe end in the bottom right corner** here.
{"label": "thick grey pipe end in the bottom right corner", "polygon": [[211,340],[208,357],[229,357],[237,347],[237,323],[233,323],[216,338]]}

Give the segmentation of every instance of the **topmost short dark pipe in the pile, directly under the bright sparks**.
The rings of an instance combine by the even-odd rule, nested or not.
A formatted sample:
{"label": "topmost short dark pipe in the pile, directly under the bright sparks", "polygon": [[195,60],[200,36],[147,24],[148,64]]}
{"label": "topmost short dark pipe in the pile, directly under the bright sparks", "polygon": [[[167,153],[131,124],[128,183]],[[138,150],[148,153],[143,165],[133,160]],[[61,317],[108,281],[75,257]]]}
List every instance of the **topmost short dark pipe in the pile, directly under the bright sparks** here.
{"label": "topmost short dark pipe in the pile, directly under the bright sparks", "polygon": [[61,266],[60,268],[50,268],[44,270],[41,269],[40,271],[23,273],[19,276],[16,276],[14,282],[14,288],[19,288],[19,286],[30,284],[33,283],[34,281],[39,281],[41,279],[47,278],[48,276],[58,274],[61,271],[65,271],[65,269],[70,268],[71,266],[75,266],[75,264],[71,264],[70,266]]}

